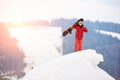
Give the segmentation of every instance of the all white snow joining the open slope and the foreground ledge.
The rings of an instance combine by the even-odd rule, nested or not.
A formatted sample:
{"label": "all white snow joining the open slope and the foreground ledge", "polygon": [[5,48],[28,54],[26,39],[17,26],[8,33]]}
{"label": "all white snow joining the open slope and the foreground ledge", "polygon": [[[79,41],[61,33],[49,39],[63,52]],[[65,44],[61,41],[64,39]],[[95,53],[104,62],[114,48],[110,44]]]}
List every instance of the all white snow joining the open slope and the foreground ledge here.
{"label": "all white snow joining the open slope and the foreground ledge", "polygon": [[22,27],[9,31],[11,37],[18,39],[28,63],[26,75],[20,80],[114,80],[97,66],[104,59],[95,50],[61,55],[59,27]]}

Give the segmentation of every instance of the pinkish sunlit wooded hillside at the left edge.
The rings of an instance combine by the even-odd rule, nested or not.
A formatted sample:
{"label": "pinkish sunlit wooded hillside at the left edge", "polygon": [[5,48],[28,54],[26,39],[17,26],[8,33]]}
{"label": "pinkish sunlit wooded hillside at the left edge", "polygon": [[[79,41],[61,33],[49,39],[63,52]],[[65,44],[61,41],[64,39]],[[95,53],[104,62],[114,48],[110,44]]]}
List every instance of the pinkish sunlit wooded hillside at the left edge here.
{"label": "pinkish sunlit wooded hillside at the left edge", "polygon": [[11,38],[5,24],[0,23],[0,80],[9,80],[5,77],[23,77],[26,66],[24,57],[17,40]]}

